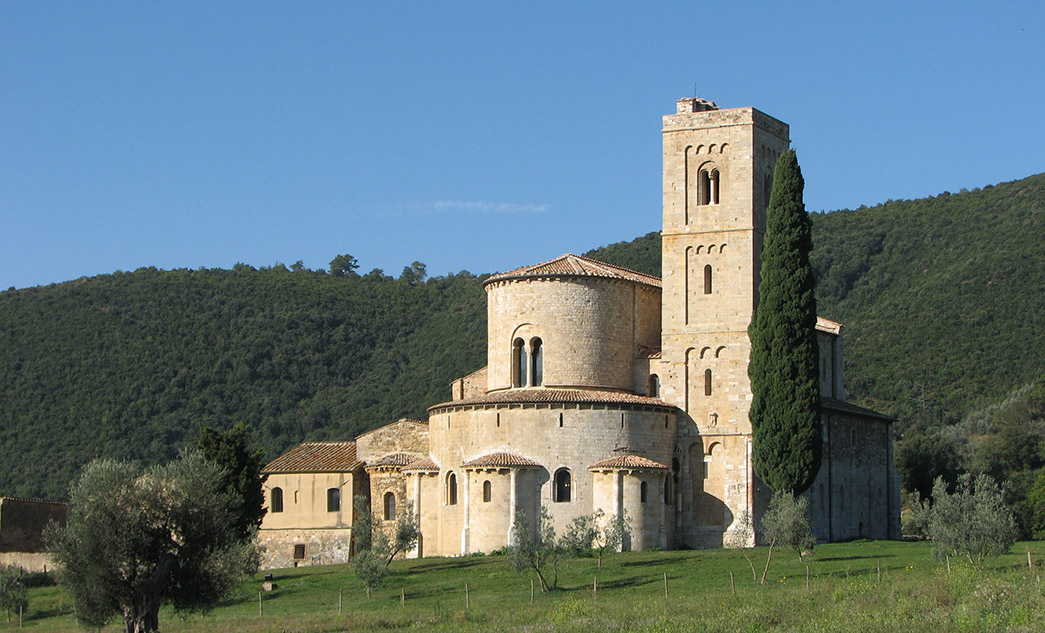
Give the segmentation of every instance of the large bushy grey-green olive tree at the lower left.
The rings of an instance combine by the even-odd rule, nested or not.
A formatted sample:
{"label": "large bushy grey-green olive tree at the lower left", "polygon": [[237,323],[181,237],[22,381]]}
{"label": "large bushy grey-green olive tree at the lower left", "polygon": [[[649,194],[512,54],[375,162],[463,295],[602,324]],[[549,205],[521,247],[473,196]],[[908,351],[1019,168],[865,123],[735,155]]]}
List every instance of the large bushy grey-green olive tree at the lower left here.
{"label": "large bushy grey-green olive tree at the lower left", "polygon": [[122,616],[124,633],[156,631],[161,605],[204,611],[257,568],[224,474],[196,452],[152,468],[115,460],[84,468],[67,526],[47,534],[82,624]]}

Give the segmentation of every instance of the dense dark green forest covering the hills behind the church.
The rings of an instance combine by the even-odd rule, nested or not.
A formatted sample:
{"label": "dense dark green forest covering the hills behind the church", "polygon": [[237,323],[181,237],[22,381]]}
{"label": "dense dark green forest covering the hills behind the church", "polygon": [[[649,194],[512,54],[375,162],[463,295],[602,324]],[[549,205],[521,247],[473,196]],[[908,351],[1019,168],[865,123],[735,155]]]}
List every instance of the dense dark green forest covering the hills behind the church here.
{"label": "dense dark green forest covering the hills behind the church", "polygon": [[[1045,358],[1043,205],[1040,174],[813,215],[818,311],[846,326],[851,400],[938,448],[939,429],[990,429],[966,420],[1029,397],[1019,390]],[[586,255],[659,275],[659,253],[651,233]],[[358,276],[335,262],[0,292],[0,493],[64,498],[86,461],[168,460],[201,423],[245,422],[274,458],[423,419],[485,364],[481,277],[425,279],[416,262],[398,279]]]}

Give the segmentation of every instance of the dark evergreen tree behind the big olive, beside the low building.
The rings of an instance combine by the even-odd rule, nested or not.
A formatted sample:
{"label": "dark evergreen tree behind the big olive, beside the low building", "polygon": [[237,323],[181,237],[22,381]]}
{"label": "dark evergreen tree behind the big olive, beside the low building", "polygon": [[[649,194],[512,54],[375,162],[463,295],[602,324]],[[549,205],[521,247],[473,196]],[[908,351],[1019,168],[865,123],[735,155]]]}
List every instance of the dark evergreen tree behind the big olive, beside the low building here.
{"label": "dark evergreen tree behind the big olive, beside the low building", "polygon": [[235,533],[241,538],[250,537],[261,525],[265,512],[261,489],[265,480],[261,475],[264,453],[251,450],[247,443],[247,425],[241,422],[224,433],[201,425],[196,448],[204,458],[225,469],[222,490],[233,499]]}

